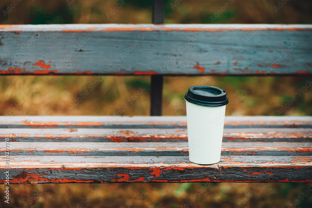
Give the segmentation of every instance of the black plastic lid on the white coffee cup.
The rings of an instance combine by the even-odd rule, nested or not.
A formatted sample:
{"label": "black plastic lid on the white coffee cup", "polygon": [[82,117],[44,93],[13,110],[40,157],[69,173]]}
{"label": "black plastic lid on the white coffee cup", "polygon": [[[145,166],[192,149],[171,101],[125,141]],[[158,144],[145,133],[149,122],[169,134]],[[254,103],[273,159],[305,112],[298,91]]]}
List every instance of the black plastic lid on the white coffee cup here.
{"label": "black plastic lid on the white coffee cup", "polygon": [[223,89],[206,85],[190,87],[184,99],[197,105],[213,107],[229,103],[227,93]]}

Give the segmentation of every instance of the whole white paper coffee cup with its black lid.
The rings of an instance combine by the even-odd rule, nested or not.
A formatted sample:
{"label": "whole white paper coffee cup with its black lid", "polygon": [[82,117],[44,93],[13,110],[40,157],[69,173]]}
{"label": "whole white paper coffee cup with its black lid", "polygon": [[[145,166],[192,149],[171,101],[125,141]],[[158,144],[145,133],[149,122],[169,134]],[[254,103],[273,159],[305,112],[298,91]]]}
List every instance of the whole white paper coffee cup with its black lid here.
{"label": "whole white paper coffee cup with its black lid", "polygon": [[185,94],[189,160],[197,164],[220,161],[228,97],[223,89],[198,85]]}

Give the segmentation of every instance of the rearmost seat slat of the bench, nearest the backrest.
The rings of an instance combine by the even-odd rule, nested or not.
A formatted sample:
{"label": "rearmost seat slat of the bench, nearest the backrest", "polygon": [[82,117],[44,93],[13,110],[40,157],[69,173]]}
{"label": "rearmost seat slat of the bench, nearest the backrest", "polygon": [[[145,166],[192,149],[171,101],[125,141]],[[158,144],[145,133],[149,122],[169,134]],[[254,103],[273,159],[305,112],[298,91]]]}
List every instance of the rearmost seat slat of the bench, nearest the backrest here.
{"label": "rearmost seat slat of the bench, nearest the backrest", "polygon": [[[187,128],[186,116],[0,116],[0,128]],[[226,116],[224,128],[312,128],[312,116]]]}

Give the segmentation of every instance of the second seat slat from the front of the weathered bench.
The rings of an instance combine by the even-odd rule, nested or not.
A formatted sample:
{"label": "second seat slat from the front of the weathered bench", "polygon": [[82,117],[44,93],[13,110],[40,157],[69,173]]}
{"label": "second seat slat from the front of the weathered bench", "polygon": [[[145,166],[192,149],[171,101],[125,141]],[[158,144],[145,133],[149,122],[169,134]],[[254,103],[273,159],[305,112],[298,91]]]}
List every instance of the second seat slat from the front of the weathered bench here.
{"label": "second seat slat from the front of the weathered bench", "polygon": [[[4,152],[4,142],[0,142]],[[188,156],[188,143],[12,142],[10,156]],[[224,142],[221,155],[311,156],[312,143]]]}

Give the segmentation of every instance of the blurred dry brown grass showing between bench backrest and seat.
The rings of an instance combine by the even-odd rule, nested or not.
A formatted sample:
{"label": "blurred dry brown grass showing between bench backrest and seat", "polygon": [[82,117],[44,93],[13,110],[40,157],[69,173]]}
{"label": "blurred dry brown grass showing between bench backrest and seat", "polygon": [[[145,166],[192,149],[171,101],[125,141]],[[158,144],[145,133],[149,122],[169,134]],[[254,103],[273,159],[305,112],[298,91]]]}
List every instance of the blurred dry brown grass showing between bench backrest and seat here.
{"label": "blurred dry brown grass showing between bench backrest and seat", "polygon": [[[1,115],[114,115],[128,104],[121,115],[149,115],[148,76],[106,76],[95,87],[97,76],[2,76],[0,77]],[[277,110],[292,96],[296,101],[282,115],[311,115],[312,88],[300,97],[295,92],[311,77],[165,77],[163,115],[186,115],[184,94],[198,84],[226,90],[232,107],[228,115],[278,115]],[[40,87],[37,92],[33,90]],[[143,93],[131,98],[138,90]],[[75,99],[85,91],[85,99]],[[241,101],[239,97],[247,92]],[[34,94],[33,94],[34,93]],[[20,107],[20,108],[19,108]],[[18,109],[19,108],[19,109]]]}

